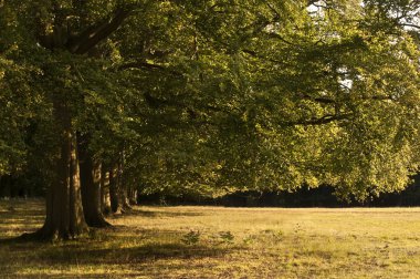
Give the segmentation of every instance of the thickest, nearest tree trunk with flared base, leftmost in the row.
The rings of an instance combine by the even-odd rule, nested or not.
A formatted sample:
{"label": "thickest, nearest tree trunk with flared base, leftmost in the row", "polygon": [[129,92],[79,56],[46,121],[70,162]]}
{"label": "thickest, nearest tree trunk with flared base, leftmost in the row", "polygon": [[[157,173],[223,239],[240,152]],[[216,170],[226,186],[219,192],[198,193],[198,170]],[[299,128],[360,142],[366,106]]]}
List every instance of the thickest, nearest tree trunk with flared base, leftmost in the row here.
{"label": "thickest, nearest tree trunk with flared base, leftmost in the row", "polygon": [[70,239],[87,230],[83,215],[76,134],[69,108],[54,103],[54,117],[61,130],[55,180],[46,195],[44,226],[35,234],[45,239]]}

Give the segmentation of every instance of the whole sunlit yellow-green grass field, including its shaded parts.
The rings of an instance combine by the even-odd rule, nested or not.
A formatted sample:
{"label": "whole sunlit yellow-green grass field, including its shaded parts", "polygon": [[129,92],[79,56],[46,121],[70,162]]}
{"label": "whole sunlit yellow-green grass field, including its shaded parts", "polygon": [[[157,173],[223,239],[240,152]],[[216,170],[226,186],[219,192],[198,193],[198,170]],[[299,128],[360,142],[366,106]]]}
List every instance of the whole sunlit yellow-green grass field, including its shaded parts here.
{"label": "whole sunlit yellow-green grass field, including its shaded parts", "polygon": [[41,200],[0,202],[0,278],[420,278],[420,208],[136,207],[80,240],[17,242]]}

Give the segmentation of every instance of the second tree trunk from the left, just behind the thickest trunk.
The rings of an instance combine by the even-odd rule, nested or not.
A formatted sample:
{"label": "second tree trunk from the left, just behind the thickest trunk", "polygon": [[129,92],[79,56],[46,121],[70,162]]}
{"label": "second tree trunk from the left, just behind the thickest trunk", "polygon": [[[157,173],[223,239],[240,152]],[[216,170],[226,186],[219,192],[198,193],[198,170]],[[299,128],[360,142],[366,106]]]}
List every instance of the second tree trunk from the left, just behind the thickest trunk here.
{"label": "second tree trunk from the left, just behind the thickest trunk", "polygon": [[86,137],[84,140],[78,144],[84,216],[88,226],[104,228],[111,224],[105,220],[101,207],[101,163],[93,159]]}

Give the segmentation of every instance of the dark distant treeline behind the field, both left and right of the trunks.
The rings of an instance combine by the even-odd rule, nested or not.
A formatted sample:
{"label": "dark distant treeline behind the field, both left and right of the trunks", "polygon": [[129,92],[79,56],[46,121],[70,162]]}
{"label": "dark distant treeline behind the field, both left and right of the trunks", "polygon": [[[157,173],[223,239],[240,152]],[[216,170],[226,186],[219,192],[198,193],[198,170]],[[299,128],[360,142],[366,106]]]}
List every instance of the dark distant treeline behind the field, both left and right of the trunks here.
{"label": "dark distant treeline behind the field, both left and right of the trunks", "polygon": [[[40,182],[31,177],[0,177],[1,198],[40,197],[45,189]],[[319,186],[318,188],[301,188],[294,193],[288,192],[235,192],[218,198],[198,195],[170,195],[155,193],[137,195],[140,205],[213,205],[232,207],[350,207],[350,206],[420,206],[420,175],[401,193],[381,194],[365,203],[357,200],[340,200],[334,194],[334,187]]]}

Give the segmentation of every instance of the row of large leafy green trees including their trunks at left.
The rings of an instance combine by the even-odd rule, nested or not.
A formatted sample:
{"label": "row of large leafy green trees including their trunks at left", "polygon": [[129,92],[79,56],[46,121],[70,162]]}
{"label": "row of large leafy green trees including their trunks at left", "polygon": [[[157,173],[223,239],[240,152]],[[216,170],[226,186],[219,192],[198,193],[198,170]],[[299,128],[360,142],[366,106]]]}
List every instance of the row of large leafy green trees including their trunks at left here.
{"label": "row of large leafy green trees including their trunks at left", "polygon": [[400,190],[419,165],[419,9],[0,1],[0,175],[42,177],[43,238],[106,226],[106,180],[114,210],[138,187]]}

